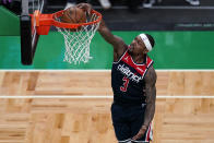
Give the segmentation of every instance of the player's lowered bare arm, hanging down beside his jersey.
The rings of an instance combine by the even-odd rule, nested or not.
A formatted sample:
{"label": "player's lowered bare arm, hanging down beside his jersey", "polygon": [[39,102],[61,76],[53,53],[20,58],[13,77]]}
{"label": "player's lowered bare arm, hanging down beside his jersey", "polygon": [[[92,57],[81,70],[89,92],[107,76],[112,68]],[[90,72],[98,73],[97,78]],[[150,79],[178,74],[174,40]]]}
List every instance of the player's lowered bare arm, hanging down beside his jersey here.
{"label": "player's lowered bare arm, hanging down beside his jersey", "polygon": [[147,130],[150,123],[152,122],[155,115],[155,102],[156,102],[156,83],[157,75],[153,67],[150,67],[147,73],[145,74],[145,96],[146,96],[146,107],[144,123],[140,129],[139,133],[133,136],[133,140],[142,138]]}

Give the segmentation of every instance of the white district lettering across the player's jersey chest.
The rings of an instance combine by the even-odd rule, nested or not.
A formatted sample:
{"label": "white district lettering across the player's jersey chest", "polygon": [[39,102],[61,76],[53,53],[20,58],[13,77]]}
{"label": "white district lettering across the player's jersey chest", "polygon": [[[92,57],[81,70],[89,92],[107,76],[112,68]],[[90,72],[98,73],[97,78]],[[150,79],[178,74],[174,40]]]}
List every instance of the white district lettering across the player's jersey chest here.
{"label": "white district lettering across the player's jersey chest", "polygon": [[128,79],[130,79],[131,81],[134,81],[136,83],[140,82],[140,80],[142,80],[142,76],[135,75],[133,72],[130,71],[129,67],[124,67],[124,64],[119,64],[118,65],[118,70],[127,75]]}

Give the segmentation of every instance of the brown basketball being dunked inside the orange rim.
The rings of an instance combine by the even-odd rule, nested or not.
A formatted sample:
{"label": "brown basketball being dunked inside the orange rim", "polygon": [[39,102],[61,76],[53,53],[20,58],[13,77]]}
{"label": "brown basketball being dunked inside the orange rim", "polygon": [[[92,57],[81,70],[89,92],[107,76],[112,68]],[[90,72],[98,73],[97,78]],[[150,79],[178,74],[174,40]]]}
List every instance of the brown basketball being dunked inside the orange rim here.
{"label": "brown basketball being dunked inside the orange rim", "polygon": [[68,8],[61,16],[61,22],[73,23],[73,24],[85,23],[86,22],[85,11],[78,7]]}

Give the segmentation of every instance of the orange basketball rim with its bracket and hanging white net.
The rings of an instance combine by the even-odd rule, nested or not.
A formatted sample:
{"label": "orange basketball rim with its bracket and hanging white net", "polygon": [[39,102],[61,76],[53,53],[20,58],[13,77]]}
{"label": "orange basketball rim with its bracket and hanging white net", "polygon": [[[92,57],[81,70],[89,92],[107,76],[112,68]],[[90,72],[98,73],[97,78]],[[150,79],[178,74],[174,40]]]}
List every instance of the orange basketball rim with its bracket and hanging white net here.
{"label": "orange basketball rim with its bracket and hanging white net", "polygon": [[63,61],[74,64],[86,63],[92,59],[90,45],[99,26],[102,14],[92,10],[86,23],[70,24],[61,22],[60,17],[63,12],[64,10],[52,14],[40,14],[38,11],[35,11],[31,15],[32,17],[34,16],[32,23],[36,23],[38,35],[48,35],[51,25],[56,26],[57,31],[62,34],[66,46]]}

